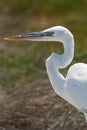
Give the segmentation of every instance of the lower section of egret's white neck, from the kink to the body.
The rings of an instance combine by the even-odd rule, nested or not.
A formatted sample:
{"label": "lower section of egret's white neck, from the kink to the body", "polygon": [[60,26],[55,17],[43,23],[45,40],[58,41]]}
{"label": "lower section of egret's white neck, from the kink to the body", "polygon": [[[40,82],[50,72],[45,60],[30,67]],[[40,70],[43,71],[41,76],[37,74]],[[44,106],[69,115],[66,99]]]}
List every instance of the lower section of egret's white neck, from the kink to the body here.
{"label": "lower section of egret's white neck, from the kink to the body", "polygon": [[51,61],[51,56],[46,60],[46,69],[49,76],[49,80],[53,86],[53,89],[55,92],[62,98],[66,99],[65,90],[64,90],[64,84],[65,84],[65,78],[57,68],[55,68],[54,63]]}

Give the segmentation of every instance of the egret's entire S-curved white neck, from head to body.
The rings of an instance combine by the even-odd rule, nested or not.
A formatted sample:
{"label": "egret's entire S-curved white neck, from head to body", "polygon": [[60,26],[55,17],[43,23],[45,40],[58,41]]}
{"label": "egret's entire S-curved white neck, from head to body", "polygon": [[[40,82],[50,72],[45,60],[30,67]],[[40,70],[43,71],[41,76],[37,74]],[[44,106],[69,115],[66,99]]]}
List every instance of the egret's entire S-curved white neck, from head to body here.
{"label": "egret's entire S-curved white neck, from head to body", "polygon": [[61,42],[64,45],[64,53],[62,55],[52,53],[52,55],[49,56],[46,60],[46,68],[50,82],[55,92],[68,101],[65,92],[66,79],[59,72],[59,68],[66,67],[72,61],[74,56],[74,39],[73,37],[69,37],[68,39],[64,39]]}

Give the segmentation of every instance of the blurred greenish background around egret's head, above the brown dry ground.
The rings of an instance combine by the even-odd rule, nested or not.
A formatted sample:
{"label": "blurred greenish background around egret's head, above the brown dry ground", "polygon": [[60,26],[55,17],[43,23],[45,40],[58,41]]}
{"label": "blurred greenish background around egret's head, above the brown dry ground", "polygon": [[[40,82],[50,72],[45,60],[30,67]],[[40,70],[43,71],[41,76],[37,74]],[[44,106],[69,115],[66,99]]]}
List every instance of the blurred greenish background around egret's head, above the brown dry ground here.
{"label": "blurred greenish background around egret's head, above the brown dry ground", "polygon": [[[67,27],[75,38],[75,62],[87,62],[86,0],[0,0],[0,35],[10,36]],[[4,44],[3,44],[4,43]],[[32,43],[32,44],[31,44]],[[13,51],[14,50],[14,51]],[[1,86],[46,77],[45,60],[53,52],[63,53],[60,43],[1,42]],[[65,74],[67,69],[62,72]]]}

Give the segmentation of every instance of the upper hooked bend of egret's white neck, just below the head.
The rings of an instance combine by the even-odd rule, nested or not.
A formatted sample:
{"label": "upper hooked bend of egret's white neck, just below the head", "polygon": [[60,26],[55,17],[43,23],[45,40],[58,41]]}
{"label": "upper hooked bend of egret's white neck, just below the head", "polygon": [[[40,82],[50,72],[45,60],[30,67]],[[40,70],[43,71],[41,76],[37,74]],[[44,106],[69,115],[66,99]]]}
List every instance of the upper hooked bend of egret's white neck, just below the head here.
{"label": "upper hooked bend of egret's white neck, just below the head", "polygon": [[69,36],[68,39],[67,39],[67,37],[65,37],[63,40],[59,40],[59,42],[63,43],[64,53],[62,55],[52,53],[51,59],[56,68],[65,68],[73,60],[74,39],[73,39],[73,37]]}

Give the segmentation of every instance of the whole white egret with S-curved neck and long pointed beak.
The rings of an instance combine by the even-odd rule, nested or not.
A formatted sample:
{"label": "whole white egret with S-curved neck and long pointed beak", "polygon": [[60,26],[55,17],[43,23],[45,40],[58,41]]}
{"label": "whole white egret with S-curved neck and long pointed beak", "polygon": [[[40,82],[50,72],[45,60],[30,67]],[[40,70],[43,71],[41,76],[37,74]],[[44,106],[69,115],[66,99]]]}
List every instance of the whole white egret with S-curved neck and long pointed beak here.
{"label": "whole white egret with S-curved neck and long pointed beak", "polygon": [[64,53],[52,53],[46,60],[47,73],[55,92],[84,113],[87,122],[87,64],[77,63],[70,67],[66,78],[59,72],[68,66],[74,56],[72,33],[62,26],[55,26],[40,32],[16,35],[4,40],[59,41]]}

